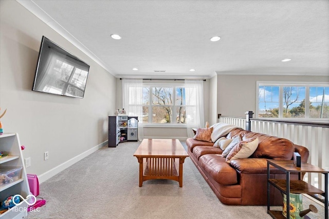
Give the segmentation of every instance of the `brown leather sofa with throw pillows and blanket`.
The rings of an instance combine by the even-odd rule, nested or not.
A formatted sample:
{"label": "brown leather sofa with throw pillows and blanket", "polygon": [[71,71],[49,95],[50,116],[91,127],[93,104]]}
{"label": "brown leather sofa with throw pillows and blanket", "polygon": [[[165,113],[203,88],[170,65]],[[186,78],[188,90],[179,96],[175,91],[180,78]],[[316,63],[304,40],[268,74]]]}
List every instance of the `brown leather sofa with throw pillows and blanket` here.
{"label": "brown leather sofa with throw pillows and blanket", "polygon": [[[188,138],[186,141],[191,160],[205,178],[218,199],[227,205],[267,205],[267,159],[291,160],[293,152],[299,152],[302,162],[307,162],[309,151],[285,138],[279,138],[241,128],[232,129],[227,138],[240,135],[242,140],[259,137],[259,145],[248,158],[226,163],[223,150],[212,142]],[[271,178],[285,179],[286,175],[271,167]],[[290,176],[298,179],[298,175]],[[282,194],[270,186],[271,205],[282,205]]]}

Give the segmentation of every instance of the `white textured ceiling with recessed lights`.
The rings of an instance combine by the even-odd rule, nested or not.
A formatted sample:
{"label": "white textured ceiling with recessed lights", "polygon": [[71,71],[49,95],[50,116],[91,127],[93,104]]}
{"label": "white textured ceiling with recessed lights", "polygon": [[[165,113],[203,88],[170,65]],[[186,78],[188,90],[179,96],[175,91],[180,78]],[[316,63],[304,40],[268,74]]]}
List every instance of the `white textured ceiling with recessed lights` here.
{"label": "white textured ceiling with recessed lights", "polygon": [[18,2],[117,77],[329,76],[329,1]]}

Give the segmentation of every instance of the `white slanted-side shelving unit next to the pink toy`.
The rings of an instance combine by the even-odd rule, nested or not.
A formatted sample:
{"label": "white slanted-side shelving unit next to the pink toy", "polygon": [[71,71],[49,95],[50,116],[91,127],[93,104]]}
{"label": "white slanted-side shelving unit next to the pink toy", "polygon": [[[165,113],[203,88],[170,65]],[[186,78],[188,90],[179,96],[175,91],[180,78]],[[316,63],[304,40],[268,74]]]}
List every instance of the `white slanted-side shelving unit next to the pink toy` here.
{"label": "white slanted-side shelving unit next to the pink toy", "polygon": [[[30,194],[30,188],[27,180],[26,169],[24,166],[21,150],[20,138],[17,133],[3,133],[0,135],[0,151],[8,154],[0,158],[1,167],[22,167],[22,174],[19,180],[0,186],[0,201],[3,201],[9,195],[20,194],[26,197]],[[22,202],[10,210],[0,214],[1,219],[23,218],[27,216],[28,205]]]}

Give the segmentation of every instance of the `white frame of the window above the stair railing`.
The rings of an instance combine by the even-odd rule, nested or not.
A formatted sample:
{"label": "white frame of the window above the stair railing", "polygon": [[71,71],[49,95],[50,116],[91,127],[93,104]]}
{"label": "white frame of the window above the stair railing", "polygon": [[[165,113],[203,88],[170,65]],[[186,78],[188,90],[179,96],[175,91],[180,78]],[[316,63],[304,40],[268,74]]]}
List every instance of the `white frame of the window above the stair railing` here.
{"label": "white frame of the window above the stair railing", "polygon": [[[259,87],[260,86],[278,86],[279,87],[279,118],[280,120],[327,120],[327,118],[309,118],[309,88],[310,87],[329,87],[327,82],[271,82],[271,81],[257,81],[256,88],[256,110],[255,117],[259,118]],[[287,118],[283,117],[283,87],[305,87],[305,117],[304,118]]]}

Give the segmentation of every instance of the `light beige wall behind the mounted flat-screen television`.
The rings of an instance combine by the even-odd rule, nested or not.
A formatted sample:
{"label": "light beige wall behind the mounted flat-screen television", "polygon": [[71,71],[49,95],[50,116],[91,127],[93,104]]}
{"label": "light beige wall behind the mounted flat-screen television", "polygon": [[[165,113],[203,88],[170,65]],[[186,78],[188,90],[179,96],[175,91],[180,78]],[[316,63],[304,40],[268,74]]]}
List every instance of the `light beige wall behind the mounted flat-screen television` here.
{"label": "light beige wall behind the mounted flat-screen television", "polygon": [[[1,122],[5,132],[19,133],[26,146],[24,158],[31,157],[27,172],[46,174],[106,144],[115,77],[16,1],[0,4],[0,106],[7,108]],[[90,65],[83,99],[31,91],[42,35]]]}

